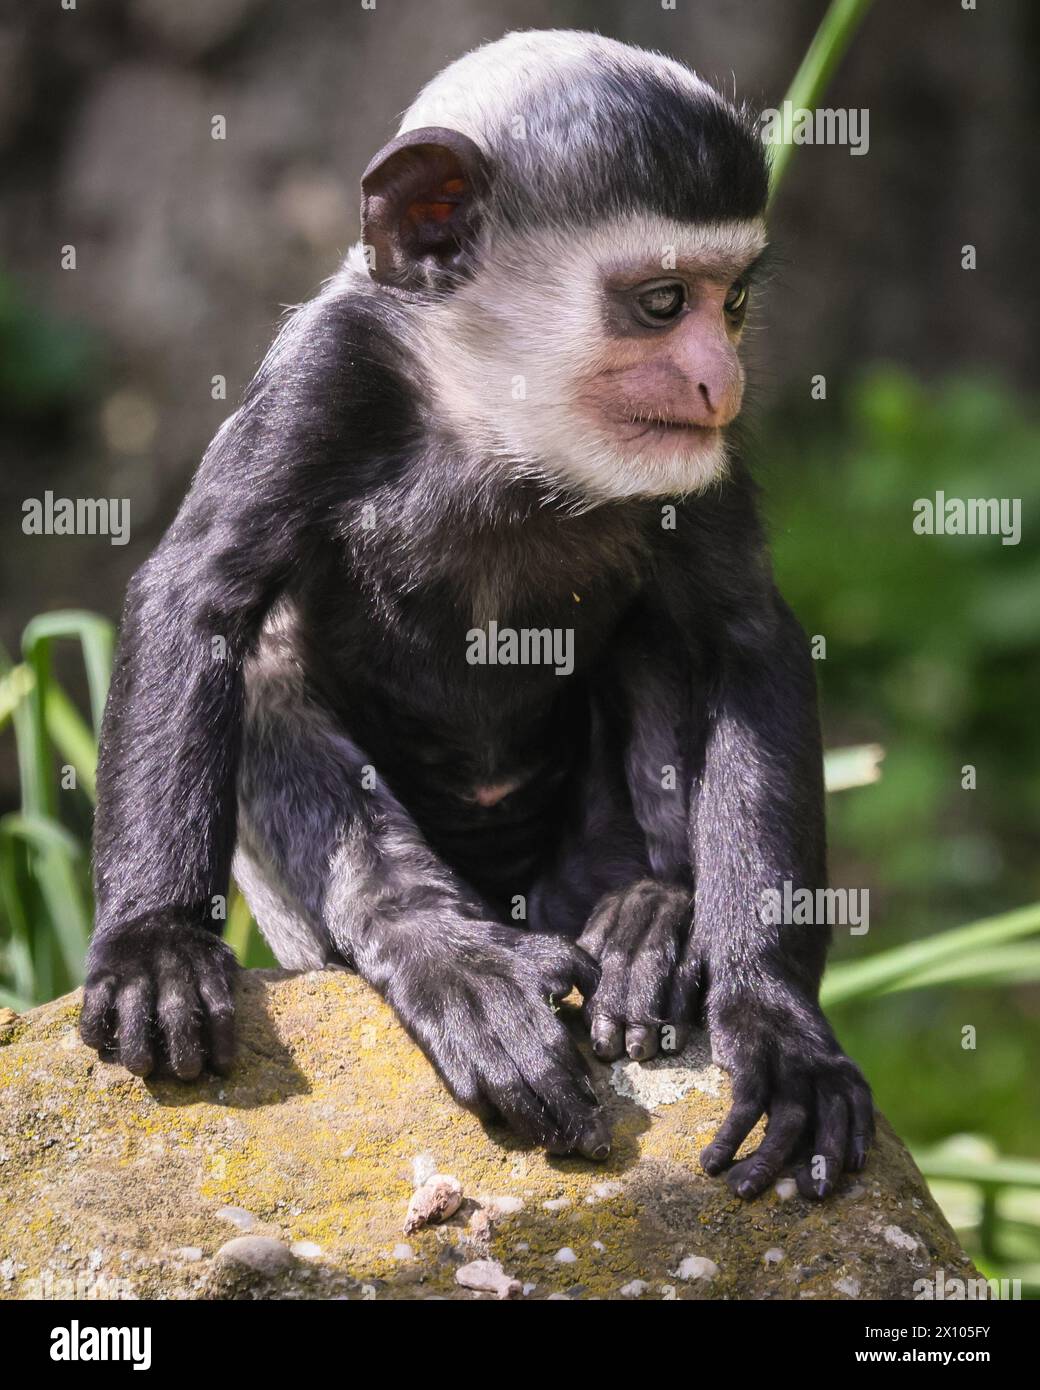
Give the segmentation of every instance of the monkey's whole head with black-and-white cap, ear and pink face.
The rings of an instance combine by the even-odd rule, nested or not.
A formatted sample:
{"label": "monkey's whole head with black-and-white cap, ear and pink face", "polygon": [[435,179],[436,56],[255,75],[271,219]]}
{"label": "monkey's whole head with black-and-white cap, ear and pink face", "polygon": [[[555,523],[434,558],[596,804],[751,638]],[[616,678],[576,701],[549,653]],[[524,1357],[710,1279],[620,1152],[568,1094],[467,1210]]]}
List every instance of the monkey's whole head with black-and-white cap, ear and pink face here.
{"label": "monkey's whole head with black-and-white cap, ear and pink face", "polygon": [[467,450],[577,505],[669,496],[726,464],[766,186],[748,117],[681,64],[513,33],[406,113],[364,174],[363,240],[420,306]]}

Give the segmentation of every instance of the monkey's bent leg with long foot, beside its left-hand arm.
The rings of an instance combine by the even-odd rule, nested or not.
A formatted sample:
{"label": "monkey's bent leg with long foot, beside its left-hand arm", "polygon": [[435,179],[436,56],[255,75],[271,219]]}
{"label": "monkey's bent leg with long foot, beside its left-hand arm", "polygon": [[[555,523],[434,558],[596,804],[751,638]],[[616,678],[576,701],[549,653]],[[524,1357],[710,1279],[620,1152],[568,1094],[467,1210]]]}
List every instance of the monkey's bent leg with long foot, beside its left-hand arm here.
{"label": "monkey's bent leg with long foot, beside its left-hand arm", "polygon": [[278,958],[355,966],[457,1101],[605,1158],[609,1130],[551,1004],[591,991],[594,962],[492,920],[271,644],[250,664],[235,872]]}

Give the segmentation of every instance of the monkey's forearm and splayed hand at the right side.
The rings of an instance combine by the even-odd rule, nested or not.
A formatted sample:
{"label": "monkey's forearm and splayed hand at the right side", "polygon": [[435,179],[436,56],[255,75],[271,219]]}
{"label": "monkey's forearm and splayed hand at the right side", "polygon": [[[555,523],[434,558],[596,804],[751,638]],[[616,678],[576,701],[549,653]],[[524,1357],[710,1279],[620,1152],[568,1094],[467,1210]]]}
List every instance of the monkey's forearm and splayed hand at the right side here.
{"label": "monkey's forearm and splayed hand at the right side", "polygon": [[708,977],[715,1055],[733,1108],[704,1151],[729,1168],[762,1115],[759,1148],[729,1172],[754,1197],[791,1162],[802,1195],[824,1197],[863,1166],[870,1093],[819,1006],[824,922],[774,924],[766,892],[826,885],[823,771],[808,644],[776,592],[754,638],[722,653],[691,826],[695,935]]}

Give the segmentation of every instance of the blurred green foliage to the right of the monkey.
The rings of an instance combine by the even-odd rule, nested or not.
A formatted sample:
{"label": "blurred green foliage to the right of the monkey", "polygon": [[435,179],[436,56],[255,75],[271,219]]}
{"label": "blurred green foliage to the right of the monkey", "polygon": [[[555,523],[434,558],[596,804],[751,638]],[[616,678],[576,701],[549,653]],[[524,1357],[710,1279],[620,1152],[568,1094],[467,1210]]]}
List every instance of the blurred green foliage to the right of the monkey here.
{"label": "blurred green foliage to the right of the monkey", "polygon": [[[879,367],[840,402],[779,411],[767,439],[779,581],[827,642],[826,741],[886,751],[877,784],[830,803],[831,881],[870,888],[869,934],[836,934],[838,1033],[936,1173],[948,1136],[984,1136],[955,1141],[982,1166],[1000,1151],[1036,1155],[1034,938],[964,956],[975,984],[957,990],[845,995],[841,981],[881,949],[1040,898],[1040,421],[993,381],[922,385]],[[915,534],[913,503],[936,492],[1021,499],[1021,542]],[[962,787],[968,764],[976,790]],[[987,1227],[989,1251],[1014,1252],[1040,1286],[1040,1193],[1019,1194],[1033,1225],[1005,1220],[1000,1241],[976,1197],[951,1197],[973,1252]]]}

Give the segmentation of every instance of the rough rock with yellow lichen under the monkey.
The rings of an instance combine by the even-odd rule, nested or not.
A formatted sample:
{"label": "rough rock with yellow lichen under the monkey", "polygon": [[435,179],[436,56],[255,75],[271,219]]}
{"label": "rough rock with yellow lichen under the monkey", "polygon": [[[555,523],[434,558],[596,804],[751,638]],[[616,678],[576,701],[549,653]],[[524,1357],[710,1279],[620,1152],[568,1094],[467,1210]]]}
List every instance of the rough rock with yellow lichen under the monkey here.
{"label": "rough rock with yellow lichen under the monkey", "polygon": [[[729,1090],[706,1070],[704,1038],[669,1059],[679,1065],[660,1084],[656,1062],[642,1079],[626,1068],[631,1094],[592,1062],[615,1125],[601,1165],[549,1158],[459,1109],[346,972],[247,972],[238,1062],[190,1086],[100,1062],[76,1038],[78,1013],[68,995],[0,1029],[0,1300],[68,1287],[131,1298],[471,1300],[505,1287],[558,1301],[887,1300],[912,1298],[937,1269],[979,1277],[883,1120],[866,1170],[820,1205],[787,1191],[745,1204],[705,1177],[697,1155]],[[463,1202],[410,1234],[402,1258],[416,1180],[445,1172],[478,1205],[494,1194],[509,1219],[487,1223],[477,1251]],[[253,1225],[235,1234],[243,1215]],[[777,1250],[783,1262],[765,1258]],[[467,1266],[491,1279],[474,1265],[505,1273],[460,1282]]]}

